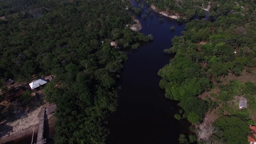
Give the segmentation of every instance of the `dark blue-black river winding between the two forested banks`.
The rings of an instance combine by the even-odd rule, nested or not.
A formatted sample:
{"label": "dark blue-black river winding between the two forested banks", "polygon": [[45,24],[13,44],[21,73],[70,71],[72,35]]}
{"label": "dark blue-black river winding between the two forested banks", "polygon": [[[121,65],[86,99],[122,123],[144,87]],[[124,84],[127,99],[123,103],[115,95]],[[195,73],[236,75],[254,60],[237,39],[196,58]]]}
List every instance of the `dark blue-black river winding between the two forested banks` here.
{"label": "dark blue-black river winding between the two forested banks", "polygon": [[[138,8],[136,0],[132,0],[132,5]],[[140,32],[152,34],[154,40],[138,50],[122,50],[128,54],[129,61],[124,64],[118,82],[121,86],[118,108],[108,123],[107,144],[178,144],[179,135],[190,126],[188,121],[174,118],[179,110],[177,102],[165,98],[157,75],[172,58],[163,50],[171,47],[174,36],[182,35],[185,23],[178,24],[166,16],[160,22],[158,13],[152,10],[150,16],[145,12],[148,8],[144,3],[144,11],[135,16],[142,26]],[[175,26],[174,32],[170,31],[171,26]]]}

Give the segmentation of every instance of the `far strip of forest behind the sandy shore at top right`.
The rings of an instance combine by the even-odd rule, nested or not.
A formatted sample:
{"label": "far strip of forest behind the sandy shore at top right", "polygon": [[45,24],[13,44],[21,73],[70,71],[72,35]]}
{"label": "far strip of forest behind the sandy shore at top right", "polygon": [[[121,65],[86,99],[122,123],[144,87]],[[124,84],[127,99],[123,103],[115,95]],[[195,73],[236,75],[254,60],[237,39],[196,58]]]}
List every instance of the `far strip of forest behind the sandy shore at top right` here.
{"label": "far strip of forest behind the sandy shore at top right", "polygon": [[[239,5],[235,2],[239,2]],[[189,21],[196,15],[199,17],[205,16],[206,11],[203,8],[209,8],[208,5],[210,6],[209,16],[211,17],[241,12],[244,9],[253,12],[256,7],[255,2],[249,0],[147,0],[147,3],[149,5],[153,4],[160,11],[179,14],[181,17],[178,21],[182,21],[183,18]]]}

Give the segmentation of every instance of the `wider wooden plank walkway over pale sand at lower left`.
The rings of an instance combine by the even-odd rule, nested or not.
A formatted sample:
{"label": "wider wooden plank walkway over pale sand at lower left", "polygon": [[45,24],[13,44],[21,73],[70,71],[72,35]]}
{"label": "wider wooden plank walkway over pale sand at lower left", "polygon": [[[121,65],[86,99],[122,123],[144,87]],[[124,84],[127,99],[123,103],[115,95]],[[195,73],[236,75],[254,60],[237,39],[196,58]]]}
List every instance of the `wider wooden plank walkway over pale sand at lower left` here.
{"label": "wider wooden plank walkway over pale sand at lower left", "polygon": [[[43,143],[43,134],[44,134],[44,117],[45,117],[45,108],[41,108],[40,115],[39,115],[39,125],[38,125],[38,132],[37,132],[37,140],[36,144],[44,144]],[[46,140],[44,140],[46,142]]]}

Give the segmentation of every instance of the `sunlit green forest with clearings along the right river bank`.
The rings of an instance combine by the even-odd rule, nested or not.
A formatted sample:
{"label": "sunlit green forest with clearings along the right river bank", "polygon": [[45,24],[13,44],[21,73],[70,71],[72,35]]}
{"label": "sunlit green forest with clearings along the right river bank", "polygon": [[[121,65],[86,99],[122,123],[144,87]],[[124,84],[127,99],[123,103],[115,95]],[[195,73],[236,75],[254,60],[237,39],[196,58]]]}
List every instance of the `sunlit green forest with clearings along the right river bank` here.
{"label": "sunlit green forest with clearings along the right river bank", "polygon": [[[164,10],[169,1],[152,2]],[[206,113],[217,118],[191,128],[202,144],[247,144],[248,125],[255,124],[256,86],[250,82],[256,66],[255,1],[234,2],[211,1],[209,15],[218,16],[215,22],[188,22],[183,36],[175,36],[164,50],[176,55],[158,72],[166,97],[180,102],[176,119],[187,118],[196,127]],[[237,80],[247,74],[252,78]],[[203,92],[207,95],[200,96]],[[240,96],[247,98],[248,108],[239,110]],[[180,135],[180,143],[193,143],[195,135]]]}

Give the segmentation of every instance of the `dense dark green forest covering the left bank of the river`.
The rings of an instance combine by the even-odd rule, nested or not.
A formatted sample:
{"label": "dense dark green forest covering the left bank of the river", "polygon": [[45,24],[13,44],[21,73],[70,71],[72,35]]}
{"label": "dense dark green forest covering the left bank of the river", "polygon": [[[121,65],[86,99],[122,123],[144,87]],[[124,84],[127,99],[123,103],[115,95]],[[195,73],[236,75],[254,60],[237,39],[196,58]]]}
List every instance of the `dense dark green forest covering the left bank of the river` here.
{"label": "dense dark green forest covering the left bank of the river", "polygon": [[[133,24],[128,0],[0,0],[0,77],[30,82],[53,75],[44,87],[56,103],[56,144],[103,144],[114,88],[127,56],[114,47],[152,40]],[[34,77],[34,76],[35,77]]]}

